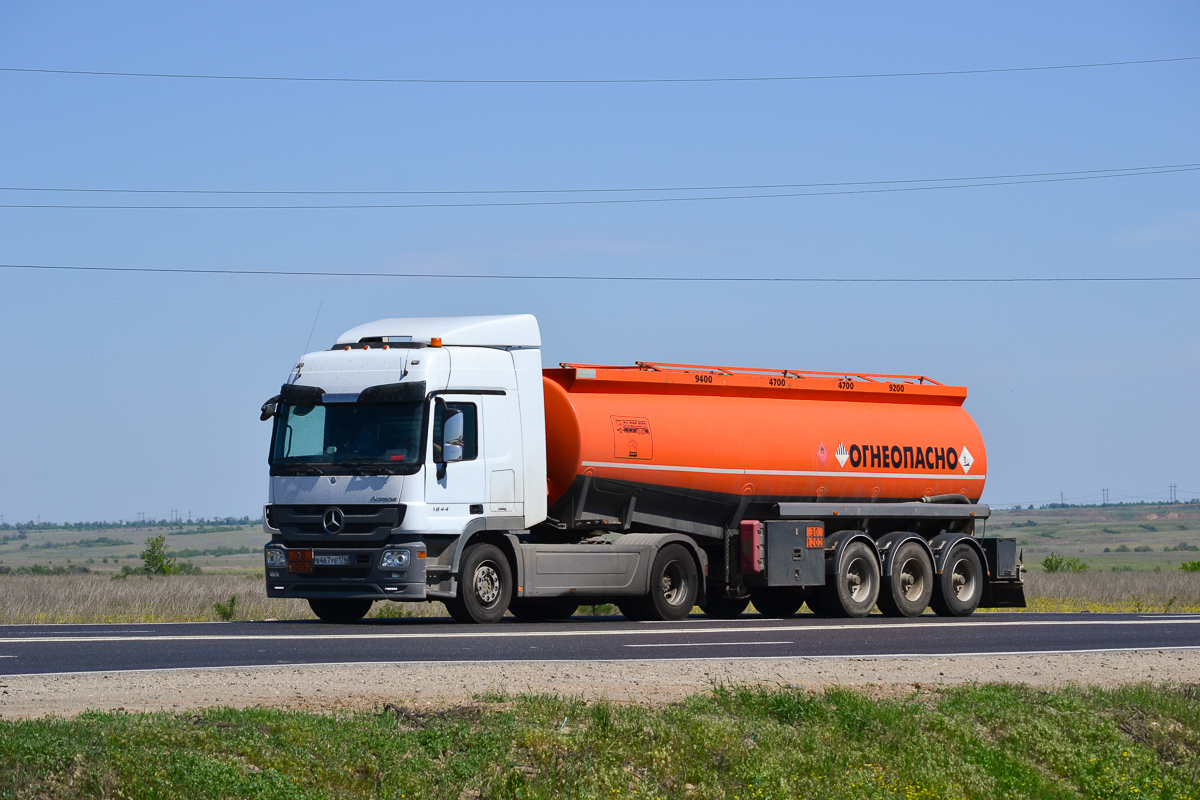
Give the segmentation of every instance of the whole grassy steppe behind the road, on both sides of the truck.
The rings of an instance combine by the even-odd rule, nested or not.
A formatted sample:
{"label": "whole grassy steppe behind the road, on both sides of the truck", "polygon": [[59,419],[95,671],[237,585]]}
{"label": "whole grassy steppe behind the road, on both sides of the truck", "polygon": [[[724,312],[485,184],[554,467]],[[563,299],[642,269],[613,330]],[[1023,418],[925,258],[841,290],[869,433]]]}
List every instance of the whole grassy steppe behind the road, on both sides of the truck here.
{"label": "whole grassy steppe behind the road, on both sides of the truck", "polygon": [[[108,524],[121,533],[79,533]],[[0,624],[312,619],[304,601],[266,597],[266,537],[254,521],[131,525],[0,528]],[[986,534],[1018,539],[1030,570],[1027,610],[1200,613],[1200,505],[997,511]],[[176,569],[187,575],[172,575]],[[578,613],[619,612],[606,604]],[[440,603],[379,602],[371,610],[445,615]]]}

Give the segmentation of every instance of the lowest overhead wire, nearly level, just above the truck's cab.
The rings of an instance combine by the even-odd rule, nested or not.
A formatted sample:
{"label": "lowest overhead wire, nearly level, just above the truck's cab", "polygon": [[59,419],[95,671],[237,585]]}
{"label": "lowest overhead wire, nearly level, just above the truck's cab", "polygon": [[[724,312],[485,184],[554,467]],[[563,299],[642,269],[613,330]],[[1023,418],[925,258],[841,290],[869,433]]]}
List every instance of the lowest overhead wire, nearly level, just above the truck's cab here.
{"label": "lowest overhead wire, nearly level, just above the truck's cab", "polygon": [[61,264],[0,264],[0,270],[47,270],[68,272],[134,272],[160,275],[246,275],[271,277],[325,278],[422,278],[443,281],[588,281],[642,283],[1187,283],[1200,276],[1133,277],[1040,277],[1040,278],[827,278],[827,277],[726,277],[673,275],[487,275],[442,272],[332,272],[320,270],[236,270],[163,266],[77,266]]}

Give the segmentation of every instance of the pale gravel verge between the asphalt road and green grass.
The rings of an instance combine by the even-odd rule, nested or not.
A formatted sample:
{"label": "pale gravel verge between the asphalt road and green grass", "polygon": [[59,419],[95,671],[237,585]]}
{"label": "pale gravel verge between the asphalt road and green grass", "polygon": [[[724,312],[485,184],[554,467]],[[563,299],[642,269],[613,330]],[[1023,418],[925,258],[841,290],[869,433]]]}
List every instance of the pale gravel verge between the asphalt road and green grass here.
{"label": "pale gravel verge between the asphalt road and green grass", "polygon": [[716,684],[793,686],[1195,682],[1200,650],[918,658],[562,661],[230,667],[0,678],[0,717],[71,717],[88,710],[210,706],[372,710],[385,703],[445,708],[480,694],[553,693],[664,704]]}

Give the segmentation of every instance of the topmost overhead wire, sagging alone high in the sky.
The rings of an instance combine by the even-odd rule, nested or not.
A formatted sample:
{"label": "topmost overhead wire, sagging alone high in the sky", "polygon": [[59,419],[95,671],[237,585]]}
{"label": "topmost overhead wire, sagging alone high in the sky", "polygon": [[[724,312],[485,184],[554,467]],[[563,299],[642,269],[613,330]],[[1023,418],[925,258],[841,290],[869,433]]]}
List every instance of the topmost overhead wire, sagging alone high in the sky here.
{"label": "topmost overhead wire, sagging alone high in the sky", "polygon": [[865,80],[876,78],[934,78],[944,76],[1002,74],[1015,72],[1052,72],[1061,70],[1093,70],[1098,67],[1128,67],[1148,64],[1198,61],[1200,55],[1168,59],[1138,59],[1132,61],[1093,61],[1087,64],[1054,64],[1031,67],[991,67],[983,70],[925,70],[917,72],[860,72],[811,76],[749,76],[744,78],[331,78],[301,76],[230,76],[181,72],[118,72],[109,70],[44,70],[35,67],[0,67],[0,72],[54,76],[94,76],[103,78],[172,78],[186,80],[254,80],[284,83],[365,83],[365,84],[442,84],[442,85],[586,85],[586,84],[696,84],[696,83],[798,83],[805,80]]}

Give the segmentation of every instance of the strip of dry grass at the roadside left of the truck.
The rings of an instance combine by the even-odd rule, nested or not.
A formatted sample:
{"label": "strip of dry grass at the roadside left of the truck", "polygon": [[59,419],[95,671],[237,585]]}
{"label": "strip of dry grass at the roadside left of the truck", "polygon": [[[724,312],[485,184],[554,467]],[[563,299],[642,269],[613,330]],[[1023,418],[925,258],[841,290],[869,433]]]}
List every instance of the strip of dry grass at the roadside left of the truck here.
{"label": "strip of dry grass at the roadside left of the truck", "polygon": [[[199,622],[221,616],[214,604],[238,596],[235,619],[312,619],[302,600],[266,596],[246,575],[169,576],[113,581],[104,576],[4,576],[0,624]],[[376,603],[372,616],[442,615],[440,603]]]}

